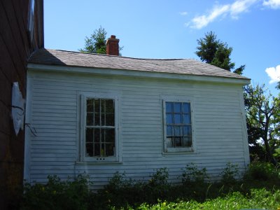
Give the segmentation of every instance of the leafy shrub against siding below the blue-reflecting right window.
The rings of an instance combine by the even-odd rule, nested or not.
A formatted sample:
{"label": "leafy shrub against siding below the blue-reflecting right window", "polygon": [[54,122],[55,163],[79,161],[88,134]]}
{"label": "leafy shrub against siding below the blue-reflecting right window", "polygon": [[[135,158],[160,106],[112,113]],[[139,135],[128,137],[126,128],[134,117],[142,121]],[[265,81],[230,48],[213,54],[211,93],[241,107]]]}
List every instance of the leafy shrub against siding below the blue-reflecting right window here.
{"label": "leafy shrub against siding below the blue-reflecting right window", "polygon": [[181,179],[184,185],[190,185],[192,183],[206,183],[209,179],[209,176],[207,175],[206,168],[198,169],[196,165],[191,163],[190,165],[186,165]]}

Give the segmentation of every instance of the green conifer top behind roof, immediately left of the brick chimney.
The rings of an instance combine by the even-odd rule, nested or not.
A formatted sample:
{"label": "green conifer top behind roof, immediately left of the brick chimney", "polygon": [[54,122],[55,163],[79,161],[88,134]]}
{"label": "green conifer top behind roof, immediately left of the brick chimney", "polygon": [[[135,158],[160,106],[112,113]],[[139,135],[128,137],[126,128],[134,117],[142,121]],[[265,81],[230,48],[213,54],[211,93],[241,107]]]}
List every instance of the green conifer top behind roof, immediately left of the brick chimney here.
{"label": "green conifer top behind roof, immediately left of the brick chimney", "polygon": [[106,35],[107,32],[100,26],[99,29],[95,29],[90,37],[85,36],[85,47],[79,49],[79,51],[106,54]]}

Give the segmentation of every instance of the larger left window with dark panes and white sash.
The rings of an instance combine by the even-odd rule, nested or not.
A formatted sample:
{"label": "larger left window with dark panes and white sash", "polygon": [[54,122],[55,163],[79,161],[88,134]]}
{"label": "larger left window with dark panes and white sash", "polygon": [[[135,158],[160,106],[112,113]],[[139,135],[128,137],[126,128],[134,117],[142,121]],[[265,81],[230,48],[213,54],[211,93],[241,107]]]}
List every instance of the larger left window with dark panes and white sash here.
{"label": "larger left window with dark panes and white sash", "polygon": [[117,98],[83,96],[83,160],[117,160]]}

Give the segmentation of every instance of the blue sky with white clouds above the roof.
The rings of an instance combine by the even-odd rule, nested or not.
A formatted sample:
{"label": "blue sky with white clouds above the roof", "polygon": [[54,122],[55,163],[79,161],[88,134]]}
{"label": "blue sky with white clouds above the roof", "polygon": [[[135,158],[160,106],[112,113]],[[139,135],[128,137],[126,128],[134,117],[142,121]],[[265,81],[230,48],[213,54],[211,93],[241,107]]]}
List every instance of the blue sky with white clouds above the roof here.
{"label": "blue sky with white clouds above the roof", "polygon": [[279,93],[280,0],[44,1],[45,48],[78,51],[100,26],[123,56],[162,59],[199,59],[197,39],[214,31],[244,76]]}

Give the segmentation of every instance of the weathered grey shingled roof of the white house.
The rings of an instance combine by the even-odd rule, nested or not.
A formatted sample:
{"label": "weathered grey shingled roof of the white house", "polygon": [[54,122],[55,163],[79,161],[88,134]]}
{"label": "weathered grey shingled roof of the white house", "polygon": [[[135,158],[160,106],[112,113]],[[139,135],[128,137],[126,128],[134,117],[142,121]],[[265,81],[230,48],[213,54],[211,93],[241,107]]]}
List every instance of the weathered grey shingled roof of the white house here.
{"label": "weathered grey shingled roof of the white house", "polygon": [[65,50],[36,50],[29,58],[31,64],[83,66],[98,69],[122,69],[180,73],[196,76],[217,76],[224,78],[248,78],[195,59],[140,59],[112,55],[71,52]]}

